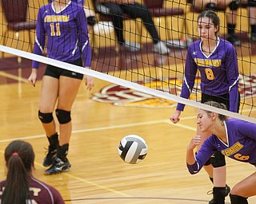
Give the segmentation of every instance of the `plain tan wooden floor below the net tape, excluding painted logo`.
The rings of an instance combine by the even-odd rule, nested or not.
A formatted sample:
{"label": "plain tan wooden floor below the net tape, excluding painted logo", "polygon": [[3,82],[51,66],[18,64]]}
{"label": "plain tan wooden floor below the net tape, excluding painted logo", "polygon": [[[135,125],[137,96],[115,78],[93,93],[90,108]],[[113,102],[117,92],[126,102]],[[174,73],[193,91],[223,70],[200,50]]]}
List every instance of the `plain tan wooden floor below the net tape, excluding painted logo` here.
{"label": "plain tan wooden floor below the net tape, excluding painted logo", "polygon": [[[72,112],[72,168],[61,175],[46,176],[42,159],[47,141],[37,116],[41,81],[31,87],[24,83],[25,77],[8,71],[2,71],[1,76],[14,83],[0,85],[0,155],[14,139],[32,143],[35,177],[56,187],[66,203],[198,204],[210,200],[211,195],[206,193],[212,185],[206,172],[192,176],[186,170],[186,145],[195,132],[194,108],[186,107],[182,120],[174,125],[169,120],[174,107],[139,108],[98,102],[91,97],[110,83],[96,79],[91,92],[82,84]],[[148,155],[142,163],[127,164],[118,156],[119,140],[129,134],[146,139]],[[249,164],[226,160],[230,186],[255,171]],[[0,163],[0,179],[5,179],[3,156]],[[256,197],[249,201],[256,203]],[[229,198],[226,203],[230,203]]]}

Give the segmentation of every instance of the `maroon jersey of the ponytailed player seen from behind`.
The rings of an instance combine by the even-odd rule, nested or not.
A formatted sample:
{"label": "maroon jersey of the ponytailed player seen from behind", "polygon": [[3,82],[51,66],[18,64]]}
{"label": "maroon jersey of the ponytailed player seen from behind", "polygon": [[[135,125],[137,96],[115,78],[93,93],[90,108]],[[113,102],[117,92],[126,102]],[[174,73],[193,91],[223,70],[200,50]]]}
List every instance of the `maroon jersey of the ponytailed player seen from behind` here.
{"label": "maroon jersey of the ponytailed player seen from behind", "polygon": [[[61,194],[54,187],[47,185],[38,179],[29,179],[30,185],[30,199],[32,203],[43,204],[64,204]],[[6,186],[6,181],[0,182],[0,198],[2,198],[2,191]],[[1,200],[0,200],[1,203]]]}

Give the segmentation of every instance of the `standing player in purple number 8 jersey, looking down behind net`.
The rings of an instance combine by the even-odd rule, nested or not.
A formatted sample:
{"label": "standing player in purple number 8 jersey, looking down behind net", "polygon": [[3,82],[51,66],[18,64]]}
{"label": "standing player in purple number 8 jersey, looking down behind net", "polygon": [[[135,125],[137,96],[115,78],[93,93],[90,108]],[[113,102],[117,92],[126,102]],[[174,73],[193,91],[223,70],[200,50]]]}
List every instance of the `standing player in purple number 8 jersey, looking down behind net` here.
{"label": "standing player in purple number 8 jersey, looking down behind net", "polygon": [[[195,41],[188,48],[181,97],[186,99],[190,97],[195,77],[199,71],[201,102],[214,100],[226,104],[231,112],[238,112],[240,95],[238,92],[237,53],[229,41],[218,37],[219,24],[219,18],[213,11],[206,10],[198,15],[198,33],[201,39]],[[178,104],[176,112],[170,116],[170,120],[174,124],[180,120],[179,116],[184,107],[184,104]],[[197,135],[202,135],[203,141],[210,136],[210,132],[202,133],[197,128]],[[198,150],[200,147],[198,145]],[[205,163],[204,168],[213,182],[213,167],[210,165],[210,161]],[[227,195],[230,189],[228,186],[226,188]]]}

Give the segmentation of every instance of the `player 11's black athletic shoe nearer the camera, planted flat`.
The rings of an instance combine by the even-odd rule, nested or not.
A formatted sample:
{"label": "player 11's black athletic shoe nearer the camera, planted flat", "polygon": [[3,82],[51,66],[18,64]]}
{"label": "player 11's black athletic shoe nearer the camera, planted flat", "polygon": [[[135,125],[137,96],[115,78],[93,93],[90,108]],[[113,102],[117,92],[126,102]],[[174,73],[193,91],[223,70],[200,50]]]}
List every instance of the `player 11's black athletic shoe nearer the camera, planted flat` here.
{"label": "player 11's black athletic shoe nearer the camera, planted flat", "polygon": [[53,165],[45,171],[45,175],[55,175],[62,172],[70,171],[70,167],[71,165],[68,159],[66,159],[66,161],[63,161],[62,159],[56,157]]}

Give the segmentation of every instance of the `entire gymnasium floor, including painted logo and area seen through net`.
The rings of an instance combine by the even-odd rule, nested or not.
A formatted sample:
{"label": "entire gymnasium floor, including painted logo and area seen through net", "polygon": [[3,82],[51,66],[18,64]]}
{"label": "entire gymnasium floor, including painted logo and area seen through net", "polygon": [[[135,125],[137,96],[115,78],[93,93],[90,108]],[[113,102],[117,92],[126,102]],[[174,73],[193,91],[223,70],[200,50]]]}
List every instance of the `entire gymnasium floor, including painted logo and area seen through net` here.
{"label": "entire gymnasium floor, including painted logo and area seen through net", "polygon": [[[186,5],[185,0],[177,2]],[[191,29],[189,31],[193,33]],[[247,33],[242,33],[241,37],[242,46],[236,48],[239,69],[247,75],[250,73],[250,78],[243,78],[241,82],[245,96],[243,102],[255,104],[256,44],[248,43]],[[144,41],[143,46],[151,50],[152,45]],[[170,48],[168,57],[146,51],[125,53],[122,49],[115,53],[115,49],[114,45],[111,49],[109,46],[95,49],[97,53],[93,55],[92,69],[122,77],[128,71],[129,75],[136,76],[135,81],[143,79],[142,73],[150,73],[153,78],[170,77],[182,83],[180,77],[186,49]],[[30,65],[31,61],[26,59],[18,64],[16,57],[0,58],[0,179],[5,179],[3,152],[6,145],[14,139],[24,139],[34,147],[34,176],[57,188],[68,204],[207,204],[212,198],[212,195],[207,195],[212,185],[206,172],[190,175],[186,170],[186,145],[195,133],[197,109],[187,106],[181,121],[172,124],[169,117],[175,110],[174,101],[98,79],[90,92],[82,83],[74,102],[68,156],[71,170],[61,175],[43,175],[42,160],[48,144],[37,114],[41,78],[46,65],[40,65],[35,87],[26,80],[30,75]],[[179,73],[175,75],[169,69]],[[154,84],[146,85],[154,87]],[[175,88],[170,90],[177,91]],[[251,109],[244,105],[242,114],[256,118],[255,107]],[[118,156],[120,139],[130,134],[141,135],[148,145],[146,159],[136,165],[124,163]],[[255,172],[255,167],[249,164],[231,159],[226,159],[226,163],[227,183],[231,187]],[[249,202],[256,203],[256,197],[250,198]],[[226,203],[230,203],[230,198],[226,198]]]}

